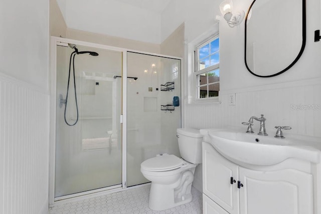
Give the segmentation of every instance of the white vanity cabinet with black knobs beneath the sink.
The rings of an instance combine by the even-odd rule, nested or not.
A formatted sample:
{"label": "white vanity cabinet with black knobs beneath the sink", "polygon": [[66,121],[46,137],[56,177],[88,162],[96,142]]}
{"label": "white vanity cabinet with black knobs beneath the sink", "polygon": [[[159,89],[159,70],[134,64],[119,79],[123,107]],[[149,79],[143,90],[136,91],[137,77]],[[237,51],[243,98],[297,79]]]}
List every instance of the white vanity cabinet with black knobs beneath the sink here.
{"label": "white vanity cabinet with black knobs beneath the sink", "polygon": [[245,168],[203,142],[203,200],[208,214],[312,214],[312,175],[291,168]]}

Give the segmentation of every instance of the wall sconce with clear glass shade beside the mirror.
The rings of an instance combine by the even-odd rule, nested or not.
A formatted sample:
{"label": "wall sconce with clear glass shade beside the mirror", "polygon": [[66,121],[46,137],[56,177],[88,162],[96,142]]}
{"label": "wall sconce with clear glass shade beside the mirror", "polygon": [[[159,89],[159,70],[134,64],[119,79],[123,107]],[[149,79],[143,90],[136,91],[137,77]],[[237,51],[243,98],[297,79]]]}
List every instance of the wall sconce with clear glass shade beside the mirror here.
{"label": "wall sconce with clear glass shade beside the mirror", "polygon": [[220,4],[220,11],[226,20],[227,24],[233,28],[234,26],[237,26],[241,24],[241,22],[244,19],[244,11],[238,11],[235,16],[232,14],[232,9],[233,9],[233,2],[232,0],[224,0]]}

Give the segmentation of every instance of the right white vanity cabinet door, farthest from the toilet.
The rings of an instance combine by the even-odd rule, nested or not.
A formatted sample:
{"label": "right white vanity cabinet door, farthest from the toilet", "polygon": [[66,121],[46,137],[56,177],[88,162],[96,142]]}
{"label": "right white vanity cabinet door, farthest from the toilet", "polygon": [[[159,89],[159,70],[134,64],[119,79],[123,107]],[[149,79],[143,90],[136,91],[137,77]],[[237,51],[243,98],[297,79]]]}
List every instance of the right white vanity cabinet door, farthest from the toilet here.
{"label": "right white vanity cabinet door, farthest from the toilet", "polygon": [[313,213],[312,175],[294,169],[254,171],[239,167],[241,214]]}

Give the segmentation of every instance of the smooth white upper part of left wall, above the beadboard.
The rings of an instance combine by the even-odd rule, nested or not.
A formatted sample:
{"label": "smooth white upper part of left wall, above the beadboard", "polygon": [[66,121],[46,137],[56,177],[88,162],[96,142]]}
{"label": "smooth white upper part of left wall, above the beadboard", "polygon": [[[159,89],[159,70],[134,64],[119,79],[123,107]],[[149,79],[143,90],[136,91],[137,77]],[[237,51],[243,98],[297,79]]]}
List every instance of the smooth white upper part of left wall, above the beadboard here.
{"label": "smooth white upper part of left wall, above the beadboard", "polygon": [[0,72],[48,90],[48,2],[4,0],[0,10]]}

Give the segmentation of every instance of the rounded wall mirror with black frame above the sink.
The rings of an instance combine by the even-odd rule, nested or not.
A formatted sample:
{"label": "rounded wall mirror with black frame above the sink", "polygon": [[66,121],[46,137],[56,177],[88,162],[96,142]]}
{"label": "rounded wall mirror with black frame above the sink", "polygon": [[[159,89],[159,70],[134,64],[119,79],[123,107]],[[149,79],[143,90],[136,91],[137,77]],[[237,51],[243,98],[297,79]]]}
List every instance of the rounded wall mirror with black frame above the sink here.
{"label": "rounded wall mirror with black frame above the sink", "polygon": [[305,47],[305,0],[254,0],[245,17],[245,65],[257,77],[291,68]]}

